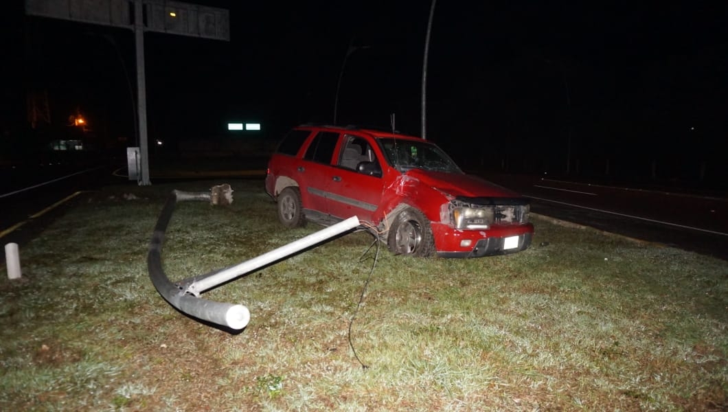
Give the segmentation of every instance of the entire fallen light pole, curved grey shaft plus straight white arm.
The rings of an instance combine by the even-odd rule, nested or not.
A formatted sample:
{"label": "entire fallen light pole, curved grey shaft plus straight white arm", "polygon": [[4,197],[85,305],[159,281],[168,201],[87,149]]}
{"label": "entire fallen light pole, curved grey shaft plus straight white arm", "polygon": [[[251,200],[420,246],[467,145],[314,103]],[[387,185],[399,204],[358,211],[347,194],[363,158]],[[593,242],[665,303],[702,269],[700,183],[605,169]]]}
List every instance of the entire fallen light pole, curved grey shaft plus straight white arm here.
{"label": "entire fallen light pole, curved grey shaft plus straight white arm", "polygon": [[[217,186],[216,186],[217,187]],[[228,188],[229,189],[229,188]],[[215,188],[213,188],[213,193]],[[228,193],[231,199],[232,196]],[[250,321],[250,311],[240,304],[226,304],[221,302],[207,301],[199,298],[199,293],[210,290],[218,285],[234,280],[244,274],[260,269],[263,266],[272,264],[287,258],[290,255],[300,252],[308,247],[319,244],[327,239],[344,234],[347,231],[359,226],[359,218],[352,216],[345,221],[328,226],[325,229],[309,234],[306,237],[291,242],[277,249],[264,253],[235,266],[221,269],[199,277],[191,277],[180,282],[170,282],[162,269],[162,243],[164,242],[165,231],[172,218],[172,213],[178,201],[202,200],[211,201],[213,196],[207,192],[186,192],[175,190],[165,203],[162,213],[154,226],[154,234],[149,245],[147,255],[147,266],[149,277],[154,288],[169,304],[181,312],[197,317],[200,320],[213,322],[231,329],[242,329]]]}

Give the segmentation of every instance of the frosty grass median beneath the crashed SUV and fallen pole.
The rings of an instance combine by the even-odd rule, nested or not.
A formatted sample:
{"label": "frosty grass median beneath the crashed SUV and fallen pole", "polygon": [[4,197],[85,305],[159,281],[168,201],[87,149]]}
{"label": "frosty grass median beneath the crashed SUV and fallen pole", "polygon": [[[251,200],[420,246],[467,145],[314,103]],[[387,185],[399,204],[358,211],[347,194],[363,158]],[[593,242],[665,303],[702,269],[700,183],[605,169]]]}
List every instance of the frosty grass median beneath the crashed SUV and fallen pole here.
{"label": "frosty grass median beneath the crashed SUV and fallen pole", "polygon": [[[684,411],[728,408],[728,264],[534,216],[529,250],[376,255],[365,232],[203,296],[240,333],[180,314],[146,253],[181,280],[320,229],[282,229],[261,181],[114,186],[74,200],[0,283],[5,411]],[[375,263],[376,256],[376,265]],[[372,269],[373,268],[373,269]]]}

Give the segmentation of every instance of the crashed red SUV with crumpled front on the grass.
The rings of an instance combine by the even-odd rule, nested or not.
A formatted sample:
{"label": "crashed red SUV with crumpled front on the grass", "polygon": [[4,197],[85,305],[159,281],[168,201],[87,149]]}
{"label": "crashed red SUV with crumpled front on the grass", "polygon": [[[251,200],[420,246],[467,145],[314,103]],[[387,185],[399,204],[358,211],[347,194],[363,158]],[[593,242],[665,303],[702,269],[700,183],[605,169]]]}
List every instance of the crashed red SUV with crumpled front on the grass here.
{"label": "crashed red SUV with crumpled front on the grass", "polygon": [[294,128],[269,160],[266,192],[285,226],[356,215],[397,254],[513,253],[534,233],[527,199],[466,175],[428,140],[381,130]]}

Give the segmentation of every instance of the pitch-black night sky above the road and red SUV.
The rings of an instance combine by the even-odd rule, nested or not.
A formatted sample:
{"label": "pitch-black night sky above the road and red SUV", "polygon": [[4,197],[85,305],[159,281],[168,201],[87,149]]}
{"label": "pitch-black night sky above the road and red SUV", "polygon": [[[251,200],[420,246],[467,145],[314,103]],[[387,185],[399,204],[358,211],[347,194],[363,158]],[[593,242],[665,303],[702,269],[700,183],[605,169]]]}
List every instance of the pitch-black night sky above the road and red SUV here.
{"label": "pitch-black night sky above the road and red SUV", "polygon": [[[78,108],[108,138],[133,136],[132,32],[23,17],[18,3],[8,38],[23,64],[5,79],[5,112],[24,117],[23,85],[48,91],[53,122]],[[209,138],[250,120],[274,139],[331,122],[349,44],[360,48],[341,77],[339,124],[388,127],[395,114],[419,135],[430,1],[197,3],[230,10],[231,41],[146,33],[150,138]],[[557,159],[567,142],[584,162],[724,157],[725,2],[472,3],[438,1],[432,25],[427,138],[454,157]]]}

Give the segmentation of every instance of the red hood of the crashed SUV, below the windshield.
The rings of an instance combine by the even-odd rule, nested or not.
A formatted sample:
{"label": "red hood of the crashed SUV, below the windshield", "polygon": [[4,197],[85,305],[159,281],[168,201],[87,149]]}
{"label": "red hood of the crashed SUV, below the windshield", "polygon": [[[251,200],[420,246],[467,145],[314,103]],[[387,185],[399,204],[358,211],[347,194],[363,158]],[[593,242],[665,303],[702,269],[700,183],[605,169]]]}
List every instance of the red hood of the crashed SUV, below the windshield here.
{"label": "red hood of the crashed SUV, below the windshield", "polygon": [[452,196],[464,197],[520,197],[521,195],[503,186],[464,173],[446,173],[412,169],[405,175],[416,178],[427,186],[444,191]]}

